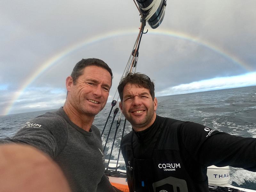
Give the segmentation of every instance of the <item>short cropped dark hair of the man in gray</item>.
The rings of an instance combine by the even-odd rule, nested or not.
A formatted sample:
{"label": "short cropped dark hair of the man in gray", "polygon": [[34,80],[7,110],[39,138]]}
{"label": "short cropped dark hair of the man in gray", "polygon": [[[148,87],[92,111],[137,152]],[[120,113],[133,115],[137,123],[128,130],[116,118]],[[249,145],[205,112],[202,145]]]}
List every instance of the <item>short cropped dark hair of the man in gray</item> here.
{"label": "short cropped dark hair of the man in gray", "polygon": [[111,85],[112,85],[112,79],[113,79],[112,70],[108,67],[107,63],[105,63],[103,60],[95,59],[95,58],[82,59],[81,61],[76,63],[76,66],[73,68],[73,71],[70,75],[72,77],[74,85],[76,84],[77,78],[83,75],[84,68],[88,66],[97,66],[97,67],[106,69],[111,75]]}

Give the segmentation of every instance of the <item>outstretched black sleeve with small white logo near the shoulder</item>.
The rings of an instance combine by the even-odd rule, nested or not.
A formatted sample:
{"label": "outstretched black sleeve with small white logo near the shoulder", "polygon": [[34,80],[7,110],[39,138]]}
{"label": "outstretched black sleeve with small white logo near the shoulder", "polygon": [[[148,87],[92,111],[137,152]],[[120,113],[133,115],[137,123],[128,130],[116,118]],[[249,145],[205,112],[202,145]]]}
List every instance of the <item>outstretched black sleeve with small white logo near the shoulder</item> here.
{"label": "outstretched black sleeve with small white logo near the shoulder", "polygon": [[233,166],[256,172],[256,139],[219,132],[193,122],[180,128],[182,143],[204,166]]}

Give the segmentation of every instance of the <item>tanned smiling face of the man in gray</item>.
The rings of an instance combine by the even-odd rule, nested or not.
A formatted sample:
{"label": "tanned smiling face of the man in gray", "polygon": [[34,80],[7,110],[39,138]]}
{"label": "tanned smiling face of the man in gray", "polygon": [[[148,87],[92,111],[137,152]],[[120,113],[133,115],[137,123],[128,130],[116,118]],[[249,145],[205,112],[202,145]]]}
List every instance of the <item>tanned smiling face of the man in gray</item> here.
{"label": "tanned smiling face of the man in gray", "polygon": [[88,66],[73,84],[72,77],[66,80],[67,101],[76,114],[94,118],[106,105],[111,87],[110,73],[101,67]]}

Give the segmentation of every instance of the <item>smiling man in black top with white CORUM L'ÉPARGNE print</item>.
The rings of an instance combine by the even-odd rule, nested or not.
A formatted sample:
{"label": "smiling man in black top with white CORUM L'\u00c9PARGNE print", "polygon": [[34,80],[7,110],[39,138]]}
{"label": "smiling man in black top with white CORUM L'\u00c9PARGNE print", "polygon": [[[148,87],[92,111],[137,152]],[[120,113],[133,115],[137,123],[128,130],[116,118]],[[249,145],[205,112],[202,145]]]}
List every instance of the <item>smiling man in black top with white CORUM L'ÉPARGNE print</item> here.
{"label": "smiling man in black top with white CORUM L'\u00c9PARGNE print", "polygon": [[119,104],[132,132],[121,141],[130,191],[206,192],[207,166],[256,171],[256,139],[156,115],[154,83],[144,74],[124,77]]}

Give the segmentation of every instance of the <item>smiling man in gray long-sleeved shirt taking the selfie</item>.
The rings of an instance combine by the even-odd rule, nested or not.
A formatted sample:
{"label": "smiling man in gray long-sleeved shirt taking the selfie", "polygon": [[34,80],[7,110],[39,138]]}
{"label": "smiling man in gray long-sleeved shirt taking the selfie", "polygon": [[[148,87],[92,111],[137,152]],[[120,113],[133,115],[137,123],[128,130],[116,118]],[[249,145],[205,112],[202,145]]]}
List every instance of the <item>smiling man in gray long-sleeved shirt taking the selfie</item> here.
{"label": "smiling man in gray long-sleeved shirt taking the selfie", "polygon": [[104,174],[100,131],[92,125],[107,102],[112,77],[102,60],[79,61],[66,79],[64,106],[30,120],[12,139],[0,143],[28,144],[43,151],[60,166],[72,191],[116,191]]}

